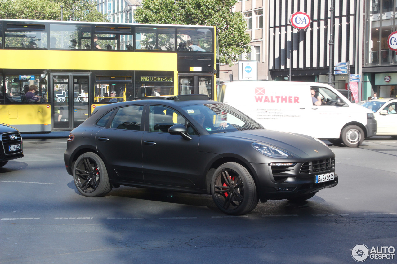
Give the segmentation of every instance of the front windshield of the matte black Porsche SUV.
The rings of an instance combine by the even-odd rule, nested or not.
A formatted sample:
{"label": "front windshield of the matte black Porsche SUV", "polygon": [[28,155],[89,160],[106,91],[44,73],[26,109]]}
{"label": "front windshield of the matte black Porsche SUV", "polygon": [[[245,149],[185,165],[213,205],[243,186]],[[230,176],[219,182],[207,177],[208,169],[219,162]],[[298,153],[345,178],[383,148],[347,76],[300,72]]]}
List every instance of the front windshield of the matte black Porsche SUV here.
{"label": "front windshield of the matte black Porsche SUV", "polygon": [[210,134],[264,129],[245,114],[224,103],[189,105],[182,109]]}

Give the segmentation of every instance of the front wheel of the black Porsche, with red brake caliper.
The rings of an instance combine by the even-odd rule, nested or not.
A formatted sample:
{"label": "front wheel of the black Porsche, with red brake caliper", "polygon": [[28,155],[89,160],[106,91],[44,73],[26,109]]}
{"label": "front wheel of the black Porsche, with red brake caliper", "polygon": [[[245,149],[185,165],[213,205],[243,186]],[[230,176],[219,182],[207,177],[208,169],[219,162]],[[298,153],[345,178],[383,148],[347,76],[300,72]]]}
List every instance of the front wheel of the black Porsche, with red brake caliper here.
{"label": "front wheel of the black Porsche, with red brake caliper", "polygon": [[231,215],[247,214],[259,201],[251,174],[234,162],[222,164],[215,170],[211,194],[215,205]]}

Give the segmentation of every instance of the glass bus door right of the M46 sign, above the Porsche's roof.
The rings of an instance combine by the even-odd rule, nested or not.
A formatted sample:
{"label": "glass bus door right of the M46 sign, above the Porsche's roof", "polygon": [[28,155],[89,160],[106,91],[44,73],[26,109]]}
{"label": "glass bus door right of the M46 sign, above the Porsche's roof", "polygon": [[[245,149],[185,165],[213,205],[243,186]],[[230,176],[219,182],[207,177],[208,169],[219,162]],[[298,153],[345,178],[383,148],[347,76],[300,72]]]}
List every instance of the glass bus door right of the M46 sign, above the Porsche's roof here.
{"label": "glass bus door right of the M46 sign, above the Porsche's roof", "polygon": [[213,91],[214,91],[214,75],[178,74],[178,95],[206,94],[211,99],[214,99]]}

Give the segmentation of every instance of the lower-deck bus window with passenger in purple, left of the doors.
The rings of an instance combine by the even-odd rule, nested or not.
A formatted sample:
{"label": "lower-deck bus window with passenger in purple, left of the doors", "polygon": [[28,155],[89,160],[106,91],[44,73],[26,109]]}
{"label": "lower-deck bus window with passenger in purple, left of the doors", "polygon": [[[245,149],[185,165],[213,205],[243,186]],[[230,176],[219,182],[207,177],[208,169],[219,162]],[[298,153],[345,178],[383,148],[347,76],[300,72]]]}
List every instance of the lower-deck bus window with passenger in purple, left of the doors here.
{"label": "lower-deck bus window with passenger in purple, left of the doors", "polygon": [[[46,74],[6,75],[6,98],[4,103],[38,103],[48,102]],[[30,87],[37,86],[37,90]],[[32,94],[33,93],[33,94]]]}

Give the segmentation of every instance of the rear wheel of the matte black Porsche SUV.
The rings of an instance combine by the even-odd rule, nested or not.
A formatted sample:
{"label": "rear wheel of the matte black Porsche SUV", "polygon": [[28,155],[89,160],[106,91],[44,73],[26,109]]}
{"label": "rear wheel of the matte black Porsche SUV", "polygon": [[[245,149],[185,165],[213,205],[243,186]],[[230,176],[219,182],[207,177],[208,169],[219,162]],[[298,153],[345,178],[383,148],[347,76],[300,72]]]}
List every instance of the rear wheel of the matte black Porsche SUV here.
{"label": "rear wheel of the matte black Porsche SUV", "polygon": [[100,197],[112,190],[106,166],[93,152],[77,158],[73,166],[73,180],[79,192],[87,197]]}

